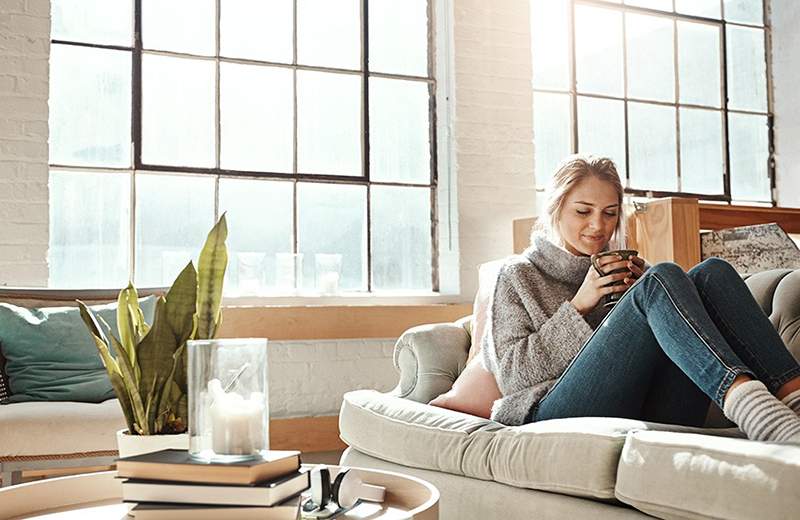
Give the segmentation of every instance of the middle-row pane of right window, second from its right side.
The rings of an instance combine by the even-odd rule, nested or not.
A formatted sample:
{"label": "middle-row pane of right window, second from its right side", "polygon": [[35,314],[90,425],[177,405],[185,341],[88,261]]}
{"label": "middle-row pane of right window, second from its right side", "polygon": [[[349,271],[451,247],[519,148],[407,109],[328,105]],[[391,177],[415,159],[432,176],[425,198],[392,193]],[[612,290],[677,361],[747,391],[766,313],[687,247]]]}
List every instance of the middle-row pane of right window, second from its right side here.
{"label": "middle-row pane of right window, second from its right side", "polygon": [[681,103],[720,106],[720,29],[678,22],[678,80]]}

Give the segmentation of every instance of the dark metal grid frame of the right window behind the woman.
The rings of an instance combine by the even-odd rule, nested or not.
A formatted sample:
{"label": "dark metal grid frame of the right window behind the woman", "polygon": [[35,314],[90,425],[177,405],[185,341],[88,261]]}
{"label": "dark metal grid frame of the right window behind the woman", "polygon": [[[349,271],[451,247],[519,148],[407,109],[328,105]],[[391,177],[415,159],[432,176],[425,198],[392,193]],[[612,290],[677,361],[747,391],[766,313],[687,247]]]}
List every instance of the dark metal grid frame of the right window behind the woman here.
{"label": "dark metal grid frame of the right window behind the woman", "polygon": [[[762,20],[763,25],[754,25],[742,22],[730,22],[725,19],[725,1],[719,0],[720,3],[720,18],[709,18],[704,16],[697,16],[697,15],[689,15],[684,13],[679,13],[676,11],[676,1],[672,0],[672,10],[671,11],[662,11],[653,8],[647,7],[640,7],[635,5],[628,5],[624,3],[624,0],[619,0],[619,3],[613,1],[604,1],[604,0],[566,0],[567,2],[567,24],[569,28],[569,35],[567,38],[568,44],[568,53],[569,53],[569,88],[568,89],[555,89],[555,88],[541,88],[533,86],[533,80],[531,82],[532,92],[535,93],[549,93],[549,94],[567,94],[570,96],[570,125],[571,125],[571,135],[570,135],[570,146],[571,146],[571,153],[578,153],[579,150],[579,128],[578,128],[578,96],[585,97],[585,98],[592,98],[592,99],[604,99],[604,100],[613,100],[613,101],[621,101],[623,104],[624,110],[624,121],[625,121],[625,178],[622,179],[623,186],[625,186],[625,194],[630,195],[632,197],[644,197],[644,198],[653,198],[653,197],[686,197],[686,198],[697,198],[706,201],[716,201],[721,203],[727,204],[734,204],[739,201],[733,199],[731,197],[731,179],[730,179],[730,140],[729,140],[729,126],[728,126],[728,114],[729,113],[736,113],[736,114],[750,114],[750,115],[759,115],[765,116],[767,119],[767,146],[768,146],[768,157],[767,157],[767,173],[769,176],[769,189],[770,189],[770,201],[751,201],[747,200],[748,204],[754,205],[766,205],[769,204],[771,206],[776,205],[776,193],[775,193],[775,158],[774,158],[774,115],[773,115],[773,92],[772,92],[772,64],[770,60],[771,55],[771,24],[769,23],[769,9],[768,9],[768,1],[769,0],[761,0],[762,6]],[[618,11],[622,13],[622,67],[623,67],[623,94],[622,97],[612,96],[612,95],[605,95],[605,94],[594,94],[594,93],[587,93],[587,92],[579,92],[577,86],[577,52],[576,52],[576,31],[575,31],[575,13],[576,8],[579,5],[589,6],[589,7],[597,7],[603,8],[613,11]],[[660,18],[665,18],[671,20],[673,23],[673,32],[672,32],[672,42],[673,42],[673,67],[674,67],[674,81],[675,81],[675,100],[673,102],[668,101],[657,101],[653,99],[642,99],[642,98],[634,98],[628,95],[628,42],[627,42],[627,30],[626,30],[626,16],[625,13],[632,13],[632,14],[642,14],[648,16],[657,16]],[[712,25],[719,28],[720,31],[720,106],[719,108],[706,106],[706,105],[698,105],[693,103],[681,103],[679,98],[680,92],[680,77],[678,74],[678,22],[680,21],[687,21],[687,22],[695,22],[695,23],[703,23],[706,25]],[[727,63],[727,28],[728,26],[734,27],[745,27],[745,28],[754,28],[763,31],[764,36],[764,60],[765,60],[765,71],[766,71],[766,111],[759,112],[753,110],[744,110],[744,109],[733,109],[728,107],[728,63]],[[532,29],[533,30],[533,29]],[[533,50],[533,49],[532,49]],[[534,50],[535,52],[535,50]],[[535,65],[534,65],[535,66]],[[675,146],[676,146],[676,174],[677,174],[677,183],[678,183],[678,190],[679,191],[663,191],[663,190],[647,190],[647,189],[635,189],[635,188],[628,188],[630,182],[630,138],[629,138],[629,129],[628,129],[628,103],[645,103],[650,105],[657,105],[657,106],[666,106],[666,107],[673,107],[676,111],[675,114]],[[723,154],[722,154],[722,166],[723,171],[720,172],[723,176],[723,189],[724,193],[721,195],[714,195],[714,194],[704,194],[704,193],[691,193],[686,191],[680,191],[681,188],[681,133],[680,133],[680,109],[681,108],[696,108],[696,109],[704,109],[704,110],[714,110],[720,113],[722,117],[722,145],[724,146]],[[536,117],[536,110],[534,108],[534,118]],[[535,166],[534,166],[535,168]],[[535,172],[534,172],[535,175]],[[537,186],[537,191],[542,192],[544,190],[543,187]]]}

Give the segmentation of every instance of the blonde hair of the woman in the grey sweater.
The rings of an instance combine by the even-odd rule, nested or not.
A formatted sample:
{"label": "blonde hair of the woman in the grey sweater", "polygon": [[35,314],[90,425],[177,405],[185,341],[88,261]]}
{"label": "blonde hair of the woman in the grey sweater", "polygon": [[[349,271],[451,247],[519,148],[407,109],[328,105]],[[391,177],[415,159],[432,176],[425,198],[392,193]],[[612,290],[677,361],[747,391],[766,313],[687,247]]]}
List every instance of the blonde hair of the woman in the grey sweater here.
{"label": "blonde hair of the woman in the grey sweater", "polygon": [[559,164],[555,175],[550,180],[547,188],[546,202],[542,208],[541,217],[533,228],[533,234],[545,233],[553,242],[563,245],[563,238],[558,231],[558,221],[564,201],[569,192],[581,181],[595,177],[603,182],[611,184],[617,192],[617,202],[619,203],[619,220],[611,237],[612,248],[625,247],[625,216],[623,214],[622,198],[624,190],[622,182],[617,173],[617,166],[608,157],[595,157],[593,155],[569,155]]}

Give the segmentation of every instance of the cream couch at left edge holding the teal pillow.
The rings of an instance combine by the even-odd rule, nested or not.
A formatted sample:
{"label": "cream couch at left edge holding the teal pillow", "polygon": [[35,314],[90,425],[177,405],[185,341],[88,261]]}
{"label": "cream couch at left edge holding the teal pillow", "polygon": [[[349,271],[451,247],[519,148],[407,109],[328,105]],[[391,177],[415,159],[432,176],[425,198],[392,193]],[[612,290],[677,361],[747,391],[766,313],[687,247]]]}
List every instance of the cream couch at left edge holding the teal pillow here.
{"label": "cream couch at left edge holding the teal pillow", "polygon": [[[164,289],[140,289],[140,296]],[[0,302],[23,307],[75,306],[115,301],[115,290],[18,289],[0,287]],[[3,368],[0,345],[0,370]],[[22,472],[110,466],[117,458],[116,432],[126,428],[119,402],[22,402],[0,405],[2,486],[21,481]]]}

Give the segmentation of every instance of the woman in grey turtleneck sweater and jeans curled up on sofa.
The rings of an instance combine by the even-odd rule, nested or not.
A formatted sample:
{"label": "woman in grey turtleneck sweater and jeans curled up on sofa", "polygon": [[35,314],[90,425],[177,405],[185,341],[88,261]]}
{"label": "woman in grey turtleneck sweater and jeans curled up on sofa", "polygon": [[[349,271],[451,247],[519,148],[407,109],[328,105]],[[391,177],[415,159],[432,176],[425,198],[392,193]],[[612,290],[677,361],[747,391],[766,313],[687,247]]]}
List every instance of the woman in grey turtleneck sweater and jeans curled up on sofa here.
{"label": "woman in grey turtleneck sweater and jeans curled up on sofa", "polygon": [[[545,232],[497,279],[483,349],[503,394],[492,417],[702,426],[710,399],[750,439],[800,443],[800,366],[728,263],[685,273],[610,256],[603,271],[627,272],[590,269],[622,245],[622,195],[610,159],[572,156],[556,172]],[[613,292],[625,294],[609,312],[598,304]]]}

